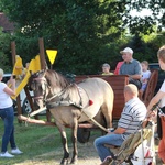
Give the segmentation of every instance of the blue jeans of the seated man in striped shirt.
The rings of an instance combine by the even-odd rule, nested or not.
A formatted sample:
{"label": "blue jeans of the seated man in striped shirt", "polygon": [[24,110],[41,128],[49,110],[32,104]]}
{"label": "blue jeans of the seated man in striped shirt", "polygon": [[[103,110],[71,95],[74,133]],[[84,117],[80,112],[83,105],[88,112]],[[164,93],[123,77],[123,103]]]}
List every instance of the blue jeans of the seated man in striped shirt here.
{"label": "blue jeans of the seated man in striped shirt", "polygon": [[110,151],[110,148],[106,147],[105,144],[121,146],[123,141],[124,140],[122,139],[121,134],[112,133],[97,138],[94,142],[94,145],[99,154],[100,160],[103,162],[107,156],[113,157],[113,153]]}

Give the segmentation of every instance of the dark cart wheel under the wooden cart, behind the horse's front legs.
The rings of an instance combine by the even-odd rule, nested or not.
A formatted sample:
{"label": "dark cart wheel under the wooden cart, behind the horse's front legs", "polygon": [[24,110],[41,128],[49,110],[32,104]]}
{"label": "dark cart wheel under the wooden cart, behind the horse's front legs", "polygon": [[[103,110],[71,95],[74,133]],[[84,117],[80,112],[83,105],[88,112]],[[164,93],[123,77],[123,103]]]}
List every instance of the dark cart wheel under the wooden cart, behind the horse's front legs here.
{"label": "dark cart wheel under the wooden cart, behind the horse's front legs", "polygon": [[80,143],[86,143],[89,141],[90,130],[86,128],[78,128],[77,130],[77,140]]}

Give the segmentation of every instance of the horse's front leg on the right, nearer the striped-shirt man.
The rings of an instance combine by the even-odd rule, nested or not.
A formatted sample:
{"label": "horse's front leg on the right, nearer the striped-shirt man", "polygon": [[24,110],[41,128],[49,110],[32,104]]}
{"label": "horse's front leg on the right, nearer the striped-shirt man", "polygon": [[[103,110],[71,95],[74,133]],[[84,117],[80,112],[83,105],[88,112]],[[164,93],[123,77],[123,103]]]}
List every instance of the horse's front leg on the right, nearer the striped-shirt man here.
{"label": "horse's front leg on the right, nearer the striped-shirt man", "polygon": [[72,141],[73,141],[73,158],[70,164],[77,164],[78,160],[78,150],[77,150],[77,129],[78,129],[78,120],[74,119],[74,124],[72,127]]}

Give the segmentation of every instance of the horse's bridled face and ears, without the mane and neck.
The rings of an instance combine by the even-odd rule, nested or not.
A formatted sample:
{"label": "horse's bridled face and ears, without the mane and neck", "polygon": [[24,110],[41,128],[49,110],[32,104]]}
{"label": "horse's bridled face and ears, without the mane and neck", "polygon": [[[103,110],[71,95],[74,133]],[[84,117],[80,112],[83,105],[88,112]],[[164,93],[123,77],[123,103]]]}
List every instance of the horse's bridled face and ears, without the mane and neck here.
{"label": "horse's bridled face and ears, without the mane and neck", "polygon": [[36,109],[45,106],[45,99],[48,94],[48,84],[45,78],[46,70],[40,70],[35,74],[31,74],[29,79],[29,89],[34,92],[34,106]]}

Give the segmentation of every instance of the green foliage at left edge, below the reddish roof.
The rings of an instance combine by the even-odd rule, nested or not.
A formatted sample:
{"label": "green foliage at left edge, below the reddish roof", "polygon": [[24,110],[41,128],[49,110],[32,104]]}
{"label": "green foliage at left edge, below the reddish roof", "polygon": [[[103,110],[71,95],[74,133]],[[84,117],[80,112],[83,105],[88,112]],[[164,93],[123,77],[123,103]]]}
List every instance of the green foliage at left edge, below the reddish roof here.
{"label": "green foliage at left edge, below the reddish roof", "polygon": [[0,68],[2,68],[4,73],[11,72],[12,68],[12,57],[9,59],[9,55],[11,55],[10,41],[10,34],[3,33],[2,29],[0,29]]}

